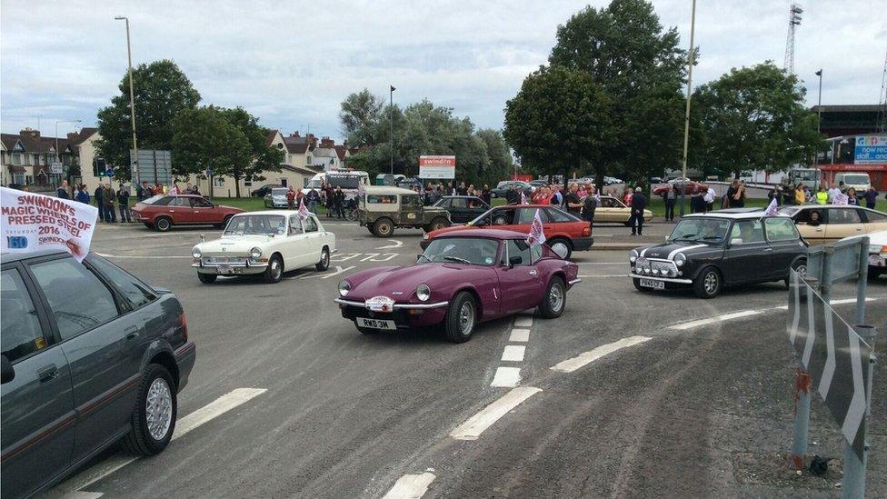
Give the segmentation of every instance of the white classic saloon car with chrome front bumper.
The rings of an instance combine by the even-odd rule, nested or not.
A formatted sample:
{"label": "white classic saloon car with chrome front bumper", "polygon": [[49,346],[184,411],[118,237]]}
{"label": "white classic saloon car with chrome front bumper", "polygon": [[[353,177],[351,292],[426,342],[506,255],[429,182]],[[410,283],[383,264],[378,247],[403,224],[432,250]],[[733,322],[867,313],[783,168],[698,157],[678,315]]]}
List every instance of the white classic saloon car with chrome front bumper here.
{"label": "white classic saloon car with chrome front bumper", "polygon": [[263,274],[279,283],[284,271],[314,265],[323,272],[335,253],[335,235],[314,214],[304,220],[293,210],[234,215],[221,239],[194,246],[192,267],[201,283],[219,275]]}

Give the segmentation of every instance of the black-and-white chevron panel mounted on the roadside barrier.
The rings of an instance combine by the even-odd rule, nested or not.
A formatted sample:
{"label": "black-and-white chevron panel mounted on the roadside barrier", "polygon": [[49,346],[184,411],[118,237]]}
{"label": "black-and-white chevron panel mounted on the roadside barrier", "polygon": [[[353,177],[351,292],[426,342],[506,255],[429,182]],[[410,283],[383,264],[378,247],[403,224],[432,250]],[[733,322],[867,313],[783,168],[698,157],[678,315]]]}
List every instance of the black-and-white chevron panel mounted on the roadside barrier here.
{"label": "black-and-white chevron panel mounted on the roadside barrier", "polygon": [[812,389],[862,459],[872,348],[793,270],[786,330]]}

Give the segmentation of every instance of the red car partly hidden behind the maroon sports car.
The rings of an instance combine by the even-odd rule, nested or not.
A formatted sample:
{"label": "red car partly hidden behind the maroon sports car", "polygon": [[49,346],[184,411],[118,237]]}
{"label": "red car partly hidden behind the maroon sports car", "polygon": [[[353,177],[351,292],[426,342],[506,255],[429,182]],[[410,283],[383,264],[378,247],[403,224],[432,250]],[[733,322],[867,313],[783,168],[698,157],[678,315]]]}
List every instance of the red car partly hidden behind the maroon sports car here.
{"label": "red car partly hidden behind the maroon sports car", "polygon": [[592,247],[594,239],[589,223],[551,205],[497,206],[467,225],[453,225],[427,233],[419,245],[425,249],[435,237],[464,229],[493,228],[530,234],[536,210],[542,218],[545,244],[564,260],[570,258],[573,251],[585,251]]}

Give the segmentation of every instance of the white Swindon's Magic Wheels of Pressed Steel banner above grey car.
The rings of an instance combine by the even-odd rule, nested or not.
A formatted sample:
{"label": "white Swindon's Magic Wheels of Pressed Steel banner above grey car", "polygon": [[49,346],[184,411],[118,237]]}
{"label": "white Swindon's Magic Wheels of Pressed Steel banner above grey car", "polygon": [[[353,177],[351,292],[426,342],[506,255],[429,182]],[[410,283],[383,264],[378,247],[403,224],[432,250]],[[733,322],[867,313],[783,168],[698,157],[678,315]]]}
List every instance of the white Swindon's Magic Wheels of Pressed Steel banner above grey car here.
{"label": "white Swindon's Magic Wheels of Pressed Steel banner above grey car", "polygon": [[3,253],[59,249],[82,262],[89,253],[98,208],[0,187],[0,214]]}

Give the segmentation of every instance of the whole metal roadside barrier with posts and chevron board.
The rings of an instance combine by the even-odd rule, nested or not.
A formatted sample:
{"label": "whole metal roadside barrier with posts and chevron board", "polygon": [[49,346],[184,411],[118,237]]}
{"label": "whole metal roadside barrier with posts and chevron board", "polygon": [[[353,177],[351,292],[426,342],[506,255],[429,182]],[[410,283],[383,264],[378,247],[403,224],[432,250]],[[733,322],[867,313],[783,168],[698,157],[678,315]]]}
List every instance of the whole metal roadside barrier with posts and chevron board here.
{"label": "whole metal roadside barrier with posts and chevron board", "polygon": [[[843,497],[865,495],[866,417],[871,414],[875,328],[865,325],[867,236],[810,249],[807,272],[791,271],[786,331],[801,367],[795,379],[792,464],[807,452],[811,389],[820,394],[844,436]],[[855,324],[830,304],[832,285],[857,279]]]}

